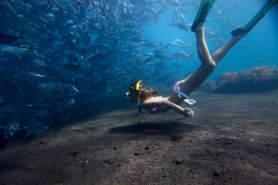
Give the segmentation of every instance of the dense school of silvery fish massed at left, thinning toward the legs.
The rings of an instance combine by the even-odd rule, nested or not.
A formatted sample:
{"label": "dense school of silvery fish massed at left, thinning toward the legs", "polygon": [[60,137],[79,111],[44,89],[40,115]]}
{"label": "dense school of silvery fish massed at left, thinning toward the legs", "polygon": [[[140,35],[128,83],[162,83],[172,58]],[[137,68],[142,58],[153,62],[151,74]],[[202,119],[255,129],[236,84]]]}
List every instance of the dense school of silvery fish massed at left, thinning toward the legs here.
{"label": "dense school of silvery fish massed at left, thinning toward the legs", "polygon": [[[186,33],[191,26],[185,23],[187,8],[196,12],[199,3],[0,0],[1,138],[10,139],[18,130],[39,135],[57,124],[54,116],[64,122],[78,111],[88,111],[96,99],[106,102],[107,97],[123,95],[133,79],[171,87],[181,75],[169,68],[181,68],[179,60],[195,60],[196,53],[186,49],[196,44],[179,39],[157,43],[142,38],[141,27],[155,24],[171,6],[173,22],[166,24]],[[213,21],[229,29],[241,26],[230,20],[229,10],[221,15],[225,11],[225,17],[215,16]],[[207,29],[205,35],[223,44],[219,32]],[[170,47],[180,51],[169,53]]]}

